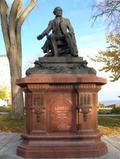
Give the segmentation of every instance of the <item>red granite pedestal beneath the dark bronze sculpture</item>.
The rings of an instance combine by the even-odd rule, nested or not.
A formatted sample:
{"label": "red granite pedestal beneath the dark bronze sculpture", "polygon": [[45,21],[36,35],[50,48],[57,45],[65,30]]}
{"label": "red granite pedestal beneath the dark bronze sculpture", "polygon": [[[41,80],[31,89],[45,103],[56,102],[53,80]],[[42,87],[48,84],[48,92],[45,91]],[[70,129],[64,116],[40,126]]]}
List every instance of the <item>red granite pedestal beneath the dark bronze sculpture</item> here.
{"label": "red granite pedestal beneath the dark bronze sculpture", "polygon": [[43,74],[17,80],[25,92],[26,132],[17,154],[28,158],[101,156],[96,75]]}

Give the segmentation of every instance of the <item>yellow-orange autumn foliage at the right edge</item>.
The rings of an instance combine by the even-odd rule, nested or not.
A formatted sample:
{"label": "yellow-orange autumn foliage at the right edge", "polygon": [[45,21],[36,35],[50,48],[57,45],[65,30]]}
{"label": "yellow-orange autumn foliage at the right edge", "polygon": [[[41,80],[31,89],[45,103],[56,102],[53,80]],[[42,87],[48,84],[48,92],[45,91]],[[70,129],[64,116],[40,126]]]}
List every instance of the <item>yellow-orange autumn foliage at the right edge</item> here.
{"label": "yellow-orange autumn foliage at the right edge", "polygon": [[95,62],[102,62],[101,71],[111,71],[112,81],[120,79],[120,35],[110,34],[107,36],[109,46],[106,51],[100,51],[99,55],[92,58]]}

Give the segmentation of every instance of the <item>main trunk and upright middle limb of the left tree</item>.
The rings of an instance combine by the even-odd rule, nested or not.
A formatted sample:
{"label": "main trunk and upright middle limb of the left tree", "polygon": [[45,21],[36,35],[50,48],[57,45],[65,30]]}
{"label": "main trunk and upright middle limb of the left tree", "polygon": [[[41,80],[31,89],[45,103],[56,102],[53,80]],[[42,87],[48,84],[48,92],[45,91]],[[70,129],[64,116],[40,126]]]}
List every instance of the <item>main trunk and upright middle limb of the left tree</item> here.
{"label": "main trunk and upright middle limb of the left tree", "polygon": [[21,118],[23,116],[23,94],[22,90],[16,85],[16,79],[22,77],[22,59],[18,50],[21,43],[17,43],[16,35],[16,17],[18,14],[19,0],[14,0],[9,15],[9,37],[10,49],[8,53],[10,75],[11,75],[11,96],[12,96],[12,118]]}

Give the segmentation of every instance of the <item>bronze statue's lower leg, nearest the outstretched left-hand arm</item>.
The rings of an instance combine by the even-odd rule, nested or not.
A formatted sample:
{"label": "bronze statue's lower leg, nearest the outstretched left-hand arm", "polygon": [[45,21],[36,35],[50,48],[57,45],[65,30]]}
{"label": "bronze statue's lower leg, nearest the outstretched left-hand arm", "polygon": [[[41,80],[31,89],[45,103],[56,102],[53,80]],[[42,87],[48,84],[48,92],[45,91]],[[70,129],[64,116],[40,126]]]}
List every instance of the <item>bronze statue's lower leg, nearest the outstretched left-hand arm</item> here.
{"label": "bronze statue's lower leg, nearest the outstretched left-hand arm", "polygon": [[58,48],[56,43],[56,36],[54,34],[50,35],[51,45],[54,52],[54,56],[58,56]]}

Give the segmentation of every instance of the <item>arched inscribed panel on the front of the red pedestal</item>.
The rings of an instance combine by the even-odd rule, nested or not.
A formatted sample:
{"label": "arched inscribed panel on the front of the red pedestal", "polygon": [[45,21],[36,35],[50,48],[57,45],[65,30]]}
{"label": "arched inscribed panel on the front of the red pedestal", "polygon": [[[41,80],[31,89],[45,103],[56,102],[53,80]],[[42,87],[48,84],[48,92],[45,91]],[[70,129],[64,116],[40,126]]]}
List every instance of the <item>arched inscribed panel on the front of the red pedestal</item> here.
{"label": "arched inscribed panel on the front of the red pedestal", "polygon": [[72,105],[67,100],[56,100],[50,113],[51,131],[70,131],[72,130]]}

